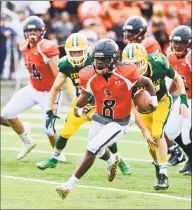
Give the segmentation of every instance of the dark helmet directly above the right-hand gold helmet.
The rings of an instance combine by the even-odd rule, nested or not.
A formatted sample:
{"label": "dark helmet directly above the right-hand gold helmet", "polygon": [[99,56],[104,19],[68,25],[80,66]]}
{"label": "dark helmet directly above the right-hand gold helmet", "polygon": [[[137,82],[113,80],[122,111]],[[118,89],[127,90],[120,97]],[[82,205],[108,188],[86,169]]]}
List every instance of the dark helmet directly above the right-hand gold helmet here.
{"label": "dark helmet directly above the right-hand gold helmet", "polygon": [[147,31],[147,21],[141,16],[128,18],[123,25],[124,39],[130,43],[140,43]]}

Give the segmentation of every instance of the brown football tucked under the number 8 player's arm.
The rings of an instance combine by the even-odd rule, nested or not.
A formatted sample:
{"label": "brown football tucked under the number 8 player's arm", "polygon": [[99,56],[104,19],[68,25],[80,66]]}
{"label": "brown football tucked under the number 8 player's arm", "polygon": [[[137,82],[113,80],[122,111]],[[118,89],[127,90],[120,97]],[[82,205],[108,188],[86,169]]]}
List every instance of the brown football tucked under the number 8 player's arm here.
{"label": "brown football tucked under the number 8 player's arm", "polygon": [[144,110],[149,107],[151,95],[144,89],[138,90],[134,95],[133,102],[137,110],[140,112],[140,110]]}

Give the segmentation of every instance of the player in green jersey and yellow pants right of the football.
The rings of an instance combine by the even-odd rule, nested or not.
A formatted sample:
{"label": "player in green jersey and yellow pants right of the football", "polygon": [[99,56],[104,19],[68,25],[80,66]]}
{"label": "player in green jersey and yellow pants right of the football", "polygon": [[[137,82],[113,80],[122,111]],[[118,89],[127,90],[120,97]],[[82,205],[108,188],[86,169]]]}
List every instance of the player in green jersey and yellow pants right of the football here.
{"label": "player in green jersey and yellow pants right of the football", "polygon": [[[168,93],[165,84],[165,77],[171,78],[179,89],[181,104],[178,112],[183,116],[188,116],[188,101],[185,87],[181,76],[175,72],[169,64],[168,59],[161,53],[147,54],[144,46],[139,43],[128,44],[122,53],[123,61],[132,61],[138,66],[141,75],[152,80],[158,98],[158,107],[153,113],[148,111],[140,114],[141,122],[155,139],[157,147],[149,144],[149,151],[153,157],[156,168],[157,184],[155,190],[164,190],[169,187],[167,175],[167,143],[164,137],[165,125],[168,121],[172,107],[172,98]],[[137,115],[137,113],[135,113]],[[136,118],[137,119],[137,118]],[[139,125],[141,128],[142,126]],[[146,134],[147,135],[147,134]]]}

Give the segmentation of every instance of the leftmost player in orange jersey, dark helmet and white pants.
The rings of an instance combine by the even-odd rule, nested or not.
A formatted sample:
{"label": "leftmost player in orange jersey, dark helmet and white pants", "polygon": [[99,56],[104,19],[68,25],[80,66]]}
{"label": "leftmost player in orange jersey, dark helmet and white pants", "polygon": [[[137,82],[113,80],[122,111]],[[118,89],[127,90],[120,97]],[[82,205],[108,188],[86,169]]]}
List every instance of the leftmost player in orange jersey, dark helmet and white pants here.
{"label": "leftmost player in orange jersey, dark helmet and white pants", "polygon": [[[17,156],[18,160],[22,159],[36,146],[36,142],[25,131],[22,122],[18,118],[18,114],[24,110],[39,104],[44,115],[44,130],[52,147],[54,147],[56,141],[54,121],[52,122],[52,127],[46,128],[46,108],[48,92],[58,74],[58,45],[43,38],[46,32],[44,22],[37,16],[30,16],[25,20],[23,31],[25,41],[20,45],[20,50],[23,54],[26,68],[29,71],[30,82],[29,85],[15,93],[3,109],[3,118],[24,143]],[[55,103],[57,104],[58,101],[59,97]]]}

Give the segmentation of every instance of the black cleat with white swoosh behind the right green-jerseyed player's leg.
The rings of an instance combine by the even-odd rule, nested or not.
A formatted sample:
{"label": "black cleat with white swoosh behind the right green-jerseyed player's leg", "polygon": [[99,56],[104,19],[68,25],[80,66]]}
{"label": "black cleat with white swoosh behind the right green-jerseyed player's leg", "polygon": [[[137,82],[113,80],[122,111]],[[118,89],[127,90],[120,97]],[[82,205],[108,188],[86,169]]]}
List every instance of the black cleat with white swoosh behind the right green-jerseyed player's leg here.
{"label": "black cleat with white swoosh behind the right green-jerseyed player's leg", "polygon": [[186,157],[178,146],[173,151],[171,151],[171,156],[168,160],[168,165],[175,166],[185,160],[186,160]]}

